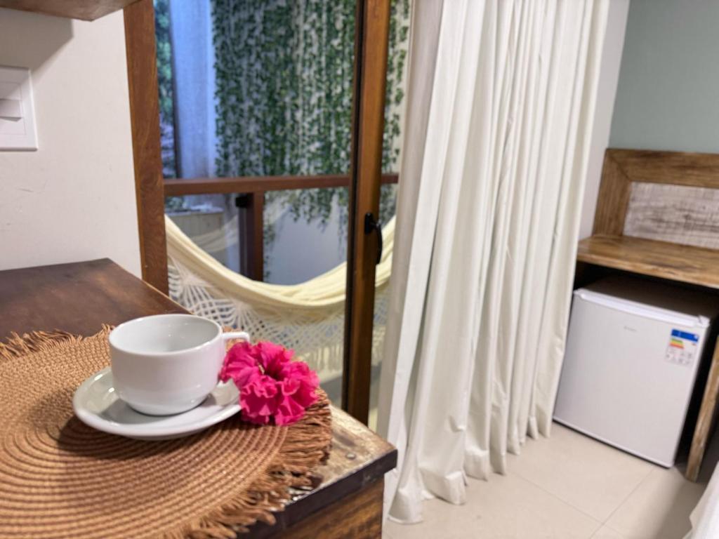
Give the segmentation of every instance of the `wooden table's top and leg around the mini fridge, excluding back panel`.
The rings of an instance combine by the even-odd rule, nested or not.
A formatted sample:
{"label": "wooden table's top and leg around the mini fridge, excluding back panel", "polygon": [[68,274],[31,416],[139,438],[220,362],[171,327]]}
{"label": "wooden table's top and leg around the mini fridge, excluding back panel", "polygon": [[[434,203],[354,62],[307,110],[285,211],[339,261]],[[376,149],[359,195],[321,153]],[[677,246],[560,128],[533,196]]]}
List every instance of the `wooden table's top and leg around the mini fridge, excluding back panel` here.
{"label": "wooden table's top and leg around the mini fridge, excluding back panel", "polygon": [[[582,239],[577,262],[683,282],[702,287],[707,293],[719,289],[719,251],[653,239],[596,234]],[[580,270],[577,267],[577,270]],[[707,347],[714,343],[707,342]],[[687,479],[696,481],[704,459],[713,419],[719,403],[719,341],[712,362],[692,434],[687,462]]]}

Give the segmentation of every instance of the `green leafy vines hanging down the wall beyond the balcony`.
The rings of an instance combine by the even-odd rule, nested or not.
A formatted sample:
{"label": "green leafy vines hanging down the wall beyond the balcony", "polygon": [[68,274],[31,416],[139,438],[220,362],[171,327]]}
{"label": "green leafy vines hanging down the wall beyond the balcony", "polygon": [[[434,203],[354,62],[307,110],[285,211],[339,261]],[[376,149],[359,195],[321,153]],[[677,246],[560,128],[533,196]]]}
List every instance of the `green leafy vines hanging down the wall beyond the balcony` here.
{"label": "green leafy vines hanging down the wall beyond the balcony", "polygon": [[[220,176],[342,174],[349,170],[355,0],[211,0]],[[391,6],[383,170],[397,170],[410,0]],[[394,213],[385,185],[380,218]],[[345,188],[267,193],[295,219],[346,212]],[[346,222],[341,216],[340,222]],[[265,224],[265,241],[274,230]]]}

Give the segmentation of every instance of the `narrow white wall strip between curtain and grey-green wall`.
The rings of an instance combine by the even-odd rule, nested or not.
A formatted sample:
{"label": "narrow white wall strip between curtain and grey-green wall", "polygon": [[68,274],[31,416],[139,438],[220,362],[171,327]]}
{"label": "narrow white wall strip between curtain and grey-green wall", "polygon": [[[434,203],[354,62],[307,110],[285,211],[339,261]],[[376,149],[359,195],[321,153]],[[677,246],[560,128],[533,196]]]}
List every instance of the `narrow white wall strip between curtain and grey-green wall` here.
{"label": "narrow white wall strip between curtain and grey-green wall", "polygon": [[597,208],[597,194],[599,193],[599,184],[602,178],[604,152],[609,144],[612,111],[622,61],[628,10],[629,0],[610,0],[607,33],[604,38],[599,87],[597,88],[592,144],[587,167],[587,184],[585,185],[584,206],[582,207],[580,238],[585,238],[592,234],[594,214]]}

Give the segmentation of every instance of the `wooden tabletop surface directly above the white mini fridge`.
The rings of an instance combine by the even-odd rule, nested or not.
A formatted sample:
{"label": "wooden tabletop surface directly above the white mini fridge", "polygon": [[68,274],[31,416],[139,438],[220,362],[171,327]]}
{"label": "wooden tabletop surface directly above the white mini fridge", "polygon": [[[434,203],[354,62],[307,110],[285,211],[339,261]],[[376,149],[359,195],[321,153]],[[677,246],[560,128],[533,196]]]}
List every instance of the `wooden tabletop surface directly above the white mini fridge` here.
{"label": "wooden tabletop surface directly above the white mini fridge", "polygon": [[580,241],[577,260],[719,289],[719,250],[715,249],[597,235]]}

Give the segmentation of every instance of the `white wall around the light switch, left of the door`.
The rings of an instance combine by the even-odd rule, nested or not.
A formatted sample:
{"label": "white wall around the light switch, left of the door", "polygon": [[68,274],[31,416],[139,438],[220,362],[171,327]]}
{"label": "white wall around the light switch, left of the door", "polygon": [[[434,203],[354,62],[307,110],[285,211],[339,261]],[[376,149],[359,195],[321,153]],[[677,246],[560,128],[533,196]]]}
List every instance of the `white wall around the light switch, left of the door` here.
{"label": "white wall around the light switch, left of the door", "polygon": [[139,275],[122,11],[0,9],[0,65],[31,69],[40,147],[0,152],[0,270],[109,257]]}

